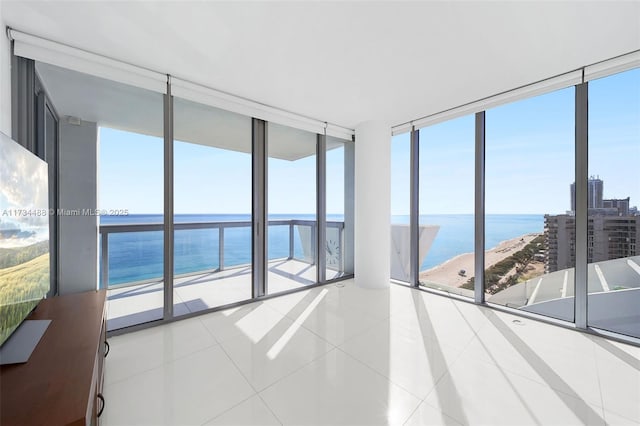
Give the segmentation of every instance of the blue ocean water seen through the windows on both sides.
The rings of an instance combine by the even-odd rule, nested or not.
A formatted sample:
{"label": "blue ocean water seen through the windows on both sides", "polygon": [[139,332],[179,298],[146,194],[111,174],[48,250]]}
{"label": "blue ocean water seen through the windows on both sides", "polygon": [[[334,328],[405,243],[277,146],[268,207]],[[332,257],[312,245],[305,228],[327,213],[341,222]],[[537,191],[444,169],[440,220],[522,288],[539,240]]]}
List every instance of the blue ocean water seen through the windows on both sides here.
{"label": "blue ocean water seen through the windows on both sides", "polygon": [[[313,220],[314,215],[270,215],[269,220]],[[250,215],[176,215],[176,223],[188,222],[243,222]],[[342,221],[340,215],[329,215],[329,221]],[[408,223],[408,216],[394,216],[392,223]],[[162,223],[162,215],[101,216],[100,223],[141,224]],[[440,230],[422,263],[421,270],[432,268],[459,254],[473,251],[473,215],[426,215],[421,224],[439,225]],[[543,215],[487,215],[485,225],[486,248],[501,241],[531,232],[542,232]],[[289,227],[270,226],[268,238],[269,259],[289,255]],[[185,274],[219,267],[218,230],[176,230],[174,238],[174,271]],[[226,228],[224,231],[224,266],[226,268],[251,262],[250,227]],[[109,235],[109,284],[122,284],[159,278],[163,273],[163,232],[127,232]],[[304,256],[302,241],[294,231],[294,255]],[[102,283],[101,283],[102,285]]]}

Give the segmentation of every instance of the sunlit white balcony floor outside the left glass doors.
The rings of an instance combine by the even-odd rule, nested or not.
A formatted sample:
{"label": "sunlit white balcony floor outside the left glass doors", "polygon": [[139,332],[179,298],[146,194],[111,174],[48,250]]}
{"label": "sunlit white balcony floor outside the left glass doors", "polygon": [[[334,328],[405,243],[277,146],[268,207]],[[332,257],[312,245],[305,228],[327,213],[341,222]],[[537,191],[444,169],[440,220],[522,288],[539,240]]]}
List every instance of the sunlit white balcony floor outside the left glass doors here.
{"label": "sunlit white balcony floor outside the left glass doors", "polygon": [[[298,260],[269,262],[269,294],[304,287],[316,282],[314,265]],[[336,276],[327,271],[327,277]],[[175,279],[173,309],[176,316],[228,305],[251,298],[251,267],[182,276]],[[107,296],[107,328],[117,330],[162,318],[162,281],[114,288]]]}

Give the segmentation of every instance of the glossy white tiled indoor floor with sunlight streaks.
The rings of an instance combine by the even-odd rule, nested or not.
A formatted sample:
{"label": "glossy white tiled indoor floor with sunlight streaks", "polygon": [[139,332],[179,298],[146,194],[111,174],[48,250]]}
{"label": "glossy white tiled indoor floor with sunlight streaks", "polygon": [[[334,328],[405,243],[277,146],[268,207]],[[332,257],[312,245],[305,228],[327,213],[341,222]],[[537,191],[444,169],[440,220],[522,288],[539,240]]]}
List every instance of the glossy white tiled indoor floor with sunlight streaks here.
{"label": "glossy white tiled indoor floor with sunlight streaks", "polygon": [[640,348],[344,284],[111,338],[103,424],[640,424]]}

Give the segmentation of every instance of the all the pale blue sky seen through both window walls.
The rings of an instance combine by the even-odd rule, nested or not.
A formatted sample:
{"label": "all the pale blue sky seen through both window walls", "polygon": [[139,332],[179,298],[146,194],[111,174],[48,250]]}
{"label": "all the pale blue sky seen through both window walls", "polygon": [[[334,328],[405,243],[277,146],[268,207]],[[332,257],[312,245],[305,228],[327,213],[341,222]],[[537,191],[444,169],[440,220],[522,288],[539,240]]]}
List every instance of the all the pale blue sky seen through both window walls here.
{"label": "all the pale blue sky seen through both window walls", "polygon": [[[563,213],[574,180],[574,88],[486,112],[486,212]],[[640,205],[640,69],[589,83],[589,173],[606,198]],[[474,117],[420,130],[420,213],[473,213]],[[100,207],[163,210],[162,140],[102,128]],[[177,142],[176,213],[251,209],[248,154]],[[409,211],[409,135],[391,144],[394,215]],[[343,150],[327,156],[327,211],[342,213]],[[315,157],[269,162],[270,213],[315,211]]]}

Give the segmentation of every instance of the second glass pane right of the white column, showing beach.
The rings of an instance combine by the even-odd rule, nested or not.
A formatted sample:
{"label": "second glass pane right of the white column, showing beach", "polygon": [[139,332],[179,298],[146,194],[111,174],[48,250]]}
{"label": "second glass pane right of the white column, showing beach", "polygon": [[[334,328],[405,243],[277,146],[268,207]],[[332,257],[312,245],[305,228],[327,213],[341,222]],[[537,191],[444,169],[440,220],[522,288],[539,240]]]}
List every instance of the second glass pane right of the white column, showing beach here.
{"label": "second glass pane right of the white column, showing beach", "polygon": [[474,159],[475,116],[420,130],[420,284],[468,297],[475,272]]}

